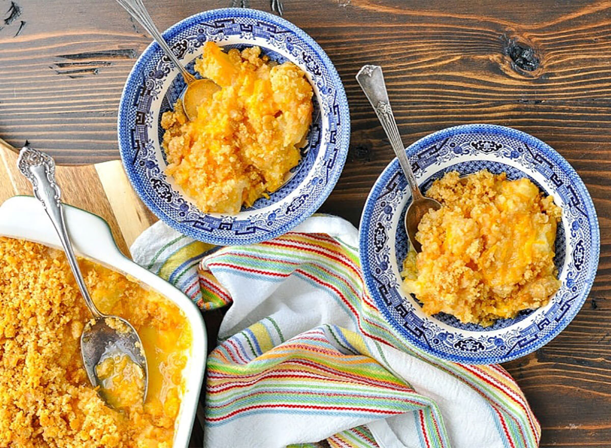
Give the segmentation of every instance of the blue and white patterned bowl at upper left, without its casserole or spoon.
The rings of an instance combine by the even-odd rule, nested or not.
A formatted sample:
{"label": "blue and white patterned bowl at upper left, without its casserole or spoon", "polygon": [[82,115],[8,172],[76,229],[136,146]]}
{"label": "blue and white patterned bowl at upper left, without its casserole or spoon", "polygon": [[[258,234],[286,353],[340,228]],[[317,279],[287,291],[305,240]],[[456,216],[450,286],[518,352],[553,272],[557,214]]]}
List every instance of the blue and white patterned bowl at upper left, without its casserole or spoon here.
{"label": "blue and white patterned bowl at upper left, without its casserole or spoon", "polygon": [[204,213],[164,173],[167,163],[161,147],[161,114],[172,108],[185,83],[153,42],[125,83],[118,120],[123,166],[148,208],[175,230],[218,245],[251,244],[279,236],[315,212],[340,176],[350,138],[342,81],[322,48],[288,21],[243,8],[196,14],[163,36],[191,71],[208,40],[224,48],[258,45],[275,61],[294,62],[312,84],[314,112],[302,160],[279,190],[237,215]]}

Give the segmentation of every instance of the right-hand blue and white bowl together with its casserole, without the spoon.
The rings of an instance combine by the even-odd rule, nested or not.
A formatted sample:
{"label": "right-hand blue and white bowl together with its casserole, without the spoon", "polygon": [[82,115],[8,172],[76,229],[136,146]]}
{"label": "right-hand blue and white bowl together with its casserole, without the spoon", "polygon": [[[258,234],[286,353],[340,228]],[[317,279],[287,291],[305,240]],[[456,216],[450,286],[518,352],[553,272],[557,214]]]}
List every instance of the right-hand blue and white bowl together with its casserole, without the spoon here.
{"label": "right-hand blue and white bowl together with its casserole, without the spoon", "polygon": [[579,312],[598,265],[596,211],[577,173],[543,141],[489,124],[438,131],[406,154],[442,209],[421,220],[423,252],[414,256],[403,225],[412,198],[397,159],[367,198],[359,258],[387,323],[464,364],[545,345]]}

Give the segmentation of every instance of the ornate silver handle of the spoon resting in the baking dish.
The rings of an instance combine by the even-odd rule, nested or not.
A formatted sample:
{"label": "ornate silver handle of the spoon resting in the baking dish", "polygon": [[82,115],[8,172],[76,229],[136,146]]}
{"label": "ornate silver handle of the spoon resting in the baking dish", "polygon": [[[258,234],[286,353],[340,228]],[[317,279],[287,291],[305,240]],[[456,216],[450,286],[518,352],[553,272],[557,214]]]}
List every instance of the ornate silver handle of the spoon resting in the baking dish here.
{"label": "ornate silver handle of the spoon resting in the baking dish", "polygon": [[21,174],[32,182],[34,196],[36,196],[40,203],[42,203],[42,206],[45,207],[45,212],[57,231],[59,241],[61,241],[62,246],[64,246],[68,264],[70,264],[72,273],[76,279],[76,284],[81,290],[87,308],[89,308],[95,318],[103,317],[104,315],[100,313],[89,296],[89,291],[87,291],[85,280],[82,278],[81,269],[78,266],[72,244],[70,243],[70,237],[68,237],[68,232],[66,231],[64,207],[62,207],[62,201],[60,200],[59,185],[57,185],[55,181],[54,160],[42,151],[24,146],[19,153],[17,166]]}

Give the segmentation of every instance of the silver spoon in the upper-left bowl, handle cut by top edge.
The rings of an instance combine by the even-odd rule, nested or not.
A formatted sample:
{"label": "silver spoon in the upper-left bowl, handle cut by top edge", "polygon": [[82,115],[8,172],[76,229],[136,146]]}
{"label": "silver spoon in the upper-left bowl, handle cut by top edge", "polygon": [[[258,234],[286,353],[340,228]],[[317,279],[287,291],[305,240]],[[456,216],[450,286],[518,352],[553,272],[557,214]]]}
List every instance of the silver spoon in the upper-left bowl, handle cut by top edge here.
{"label": "silver spoon in the upper-left bowl, handle cut by top edge", "polygon": [[136,19],[136,21],[142,25],[142,28],[147,30],[148,34],[150,34],[153,39],[159,44],[159,47],[162,48],[166,56],[170,58],[170,61],[174,62],[174,65],[178,67],[181,75],[183,75],[183,80],[187,84],[185,91],[182,94],[183,100],[183,109],[185,110],[185,114],[190,121],[193,121],[197,118],[197,106],[199,106],[202,102],[210,98],[214,92],[221,89],[217,84],[215,84],[211,80],[199,80],[185,68],[178,58],[175,56],[174,51],[167,45],[165,39],[155,26],[153,19],[150,17],[147,9],[144,7],[144,3],[142,0],[117,0],[117,2],[125,8],[125,10],[130,13],[131,17]]}

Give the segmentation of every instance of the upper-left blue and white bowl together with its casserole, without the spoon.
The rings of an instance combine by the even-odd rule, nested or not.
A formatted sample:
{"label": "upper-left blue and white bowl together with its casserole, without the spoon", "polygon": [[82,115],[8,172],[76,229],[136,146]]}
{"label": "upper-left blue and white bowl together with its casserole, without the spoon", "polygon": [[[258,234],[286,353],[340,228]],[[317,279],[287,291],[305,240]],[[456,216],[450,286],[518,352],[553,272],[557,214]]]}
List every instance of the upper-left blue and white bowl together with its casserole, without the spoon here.
{"label": "upper-left blue and white bowl together with its casserole, without the spoon", "polygon": [[312,215],[339,179],[350,140],[348,100],[323,49],[286,20],[246,8],[196,14],[163,37],[220,90],[189,124],[177,107],[185,89],[177,67],[154,42],[138,58],[117,130],[144,204],[215,245],[266,241]]}

